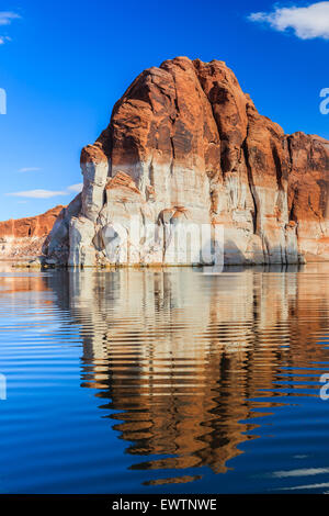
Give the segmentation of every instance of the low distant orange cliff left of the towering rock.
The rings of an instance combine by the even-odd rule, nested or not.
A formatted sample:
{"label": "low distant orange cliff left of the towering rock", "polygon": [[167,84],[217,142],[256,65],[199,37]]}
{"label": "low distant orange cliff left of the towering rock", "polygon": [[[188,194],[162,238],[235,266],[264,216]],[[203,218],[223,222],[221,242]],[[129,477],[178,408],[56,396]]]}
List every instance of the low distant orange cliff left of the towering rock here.
{"label": "low distant orange cliff left of the towering rock", "polygon": [[0,222],[0,257],[26,258],[42,253],[42,247],[64,206],[42,215]]}

